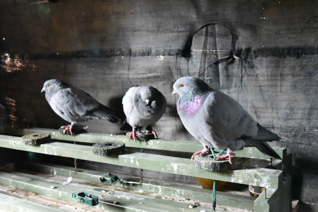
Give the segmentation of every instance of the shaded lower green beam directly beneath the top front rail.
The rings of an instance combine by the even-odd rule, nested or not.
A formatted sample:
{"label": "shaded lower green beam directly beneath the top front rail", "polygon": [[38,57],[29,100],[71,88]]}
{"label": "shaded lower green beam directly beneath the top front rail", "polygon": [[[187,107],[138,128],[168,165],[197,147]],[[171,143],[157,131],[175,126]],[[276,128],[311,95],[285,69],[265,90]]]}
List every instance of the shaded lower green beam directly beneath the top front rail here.
{"label": "shaded lower green beam directly beneath the top front rail", "polygon": [[[39,164],[26,162],[21,164],[25,169],[38,171],[46,174],[73,177],[81,180],[88,180],[92,182],[100,183],[101,175],[104,172],[89,170],[89,169],[77,169],[75,171],[74,167],[67,167],[55,164]],[[114,173],[112,173],[114,174]],[[119,187],[125,187],[129,189],[143,190],[146,192],[158,193],[163,195],[170,195],[176,197],[182,197],[187,199],[193,199],[200,202],[211,202],[212,200],[212,190],[199,189],[179,184],[174,184],[173,182],[161,182],[160,180],[146,180],[142,184],[139,183],[140,179],[131,179],[130,176],[118,175],[119,178],[124,179],[123,182],[117,182],[115,184]],[[129,179],[129,182],[127,182]],[[217,191],[218,204],[226,205],[230,207],[240,208],[240,209],[254,209],[255,197],[244,196],[238,194],[231,194],[227,192]]]}

